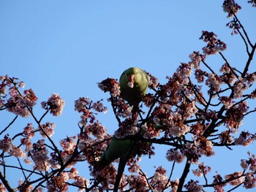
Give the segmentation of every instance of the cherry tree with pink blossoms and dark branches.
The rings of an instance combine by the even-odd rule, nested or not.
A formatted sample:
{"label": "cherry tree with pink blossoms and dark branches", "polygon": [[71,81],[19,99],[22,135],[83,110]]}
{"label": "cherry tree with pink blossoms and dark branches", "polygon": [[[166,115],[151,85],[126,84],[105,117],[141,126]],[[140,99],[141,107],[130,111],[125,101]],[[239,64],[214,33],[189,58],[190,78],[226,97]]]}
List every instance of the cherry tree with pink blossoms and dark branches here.
{"label": "cherry tree with pink blossoms and dark branches", "polygon": [[[256,7],[255,1],[248,1]],[[251,66],[256,43],[251,42],[246,28],[238,18],[241,7],[233,0],[224,1],[224,12],[230,18],[227,27],[232,35],[244,42],[246,63],[236,69],[223,53],[227,45],[217,34],[202,31],[200,39],[206,43],[203,51],[194,51],[187,63],[181,63],[165,84],[150,77],[149,91],[140,102],[139,112],[120,96],[118,80],[107,78],[99,82],[99,88],[109,94],[111,112],[118,122],[117,138],[128,138],[132,145],[120,159],[103,169],[97,169],[100,156],[113,135],[100,123],[97,115],[106,112],[102,99],[91,101],[80,97],[75,110],[80,114],[78,132],[74,136],[55,141],[52,139],[55,123],[44,122],[47,115],[59,116],[64,100],[53,93],[41,103],[43,114],[37,117],[33,108],[37,96],[32,89],[25,89],[18,78],[0,77],[0,110],[15,114],[15,118],[0,130],[1,170],[0,191],[213,191],[254,188],[256,185],[256,157],[252,153],[242,157],[240,169],[230,174],[214,174],[208,177],[211,167],[200,161],[214,156],[216,147],[232,149],[234,146],[251,145],[256,134],[240,130],[243,119],[256,112],[248,104],[256,99],[256,72]],[[243,53],[241,53],[243,54]],[[220,56],[219,71],[211,68],[207,58]],[[236,57],[236,55],[234,55]],[[30,117],[33,122],[10,134],[18,117]],[[141,168],[143,157],[155,153],[154,146],[168,147],[161,161],[170,161],[171,167],[152,167],[154,174],[148,176]],[[7,162],[17,161],[18,164]],[[150,161],[150,160],[149,160]],[[90,177],[80,175],[77,164],[88,165]],[[117,163],[117,164],[116,164]],[[174,178],[176,166],[184,169]],[[197,169],[190,169],[196,165]],[[7,177],[10,169],[21,172],[17,185],[10,185]],[[193,177],[189,177],[189,173]],[[167,174],[168,173],[168,174]],[[202,179],[203,178],[203,179]]]}

